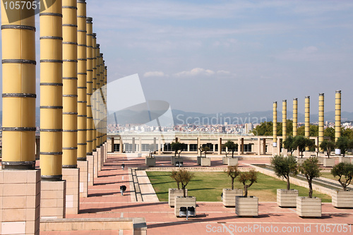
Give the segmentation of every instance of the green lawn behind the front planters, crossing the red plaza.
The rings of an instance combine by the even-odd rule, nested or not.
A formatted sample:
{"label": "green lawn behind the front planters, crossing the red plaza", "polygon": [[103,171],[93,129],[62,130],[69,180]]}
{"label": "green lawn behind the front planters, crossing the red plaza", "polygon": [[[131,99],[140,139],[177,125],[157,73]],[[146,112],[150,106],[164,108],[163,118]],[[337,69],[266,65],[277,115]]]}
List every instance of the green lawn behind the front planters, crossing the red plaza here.
{"label": "green lawn behind the front planters, crossing the red plaza", "polygon": [[[169,177],[167,171],[146,171],[155,192],[160,201],[168,200],[168,188],[177,188],[177,183]],[[198,201],[217,202],[221,201],[223,188],[231,187],[231,180],[224,172],[193,172],[195,178],[186,186],[189,195],[195,196]],[[258,173],[258,183],[249,188],[249,195],[255,195],[261,202],[275,202],[277,188],[286,188],[287,182],[275,179],[271,176]],[[309,189],[291,185],[293,189],[299,190],[299,195],[309,195]],[[237,180],[234,188],[243,188]],[[313,196],[322,198],[323,203],[330,203],[331,197],[323,193],[313,192]]]}

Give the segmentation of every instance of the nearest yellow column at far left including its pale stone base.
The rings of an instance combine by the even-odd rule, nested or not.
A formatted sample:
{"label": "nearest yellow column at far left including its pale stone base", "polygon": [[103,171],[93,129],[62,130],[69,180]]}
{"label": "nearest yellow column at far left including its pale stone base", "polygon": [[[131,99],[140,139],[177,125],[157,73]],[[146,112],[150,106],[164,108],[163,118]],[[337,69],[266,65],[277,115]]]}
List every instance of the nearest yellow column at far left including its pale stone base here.
{"label": "nearest yellow column at far left including its pale stone base", "polygon": [[39,235],[40,170],[35,169],[35,11],[11,10],[10,3],[1,1],[1,234]]}

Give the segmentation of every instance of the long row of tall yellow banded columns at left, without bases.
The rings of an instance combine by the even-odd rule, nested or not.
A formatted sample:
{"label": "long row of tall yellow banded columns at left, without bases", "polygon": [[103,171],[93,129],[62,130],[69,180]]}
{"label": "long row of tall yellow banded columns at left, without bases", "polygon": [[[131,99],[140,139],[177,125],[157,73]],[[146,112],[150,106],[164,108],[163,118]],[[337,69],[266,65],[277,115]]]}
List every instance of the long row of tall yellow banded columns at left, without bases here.
{"label": "long row of tall yellow banded columns at left, without bases", "polygon": [[[90,96],[107,84],[107,68],[92,34],[92,18],[86,22],[85,5],[82,0],[57,0],[40,13],[42,179],[61,180],[61,167],[76,168],[78,159],[85,160],[86,155],[106,141],[105,121],[97,132],[92,120]],[[20,16],[32,16],[10,23],[1,1],[4,168],[35,166],[36,61],[32,11],[19,9]],[[94,106],[103,119],[104,104]]]}

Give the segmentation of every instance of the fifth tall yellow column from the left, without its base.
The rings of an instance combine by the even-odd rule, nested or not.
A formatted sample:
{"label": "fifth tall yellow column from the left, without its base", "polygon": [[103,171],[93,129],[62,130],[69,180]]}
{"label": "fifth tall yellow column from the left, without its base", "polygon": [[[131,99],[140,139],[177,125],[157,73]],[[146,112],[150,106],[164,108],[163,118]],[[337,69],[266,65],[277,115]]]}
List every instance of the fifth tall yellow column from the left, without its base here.
{"label": "fifth tall yellow column from the left, without its base", "polygon": [[90,98],[92,96],[92,76],[93,76],[93,47],[92,47],[92,18],[88,17],[86,19],[86,27],[87,27],[87,145],[86,145],[86,153],[87,155],[92,155],[92,140],[93,140],[93,116],[92,116],[92,104]]}

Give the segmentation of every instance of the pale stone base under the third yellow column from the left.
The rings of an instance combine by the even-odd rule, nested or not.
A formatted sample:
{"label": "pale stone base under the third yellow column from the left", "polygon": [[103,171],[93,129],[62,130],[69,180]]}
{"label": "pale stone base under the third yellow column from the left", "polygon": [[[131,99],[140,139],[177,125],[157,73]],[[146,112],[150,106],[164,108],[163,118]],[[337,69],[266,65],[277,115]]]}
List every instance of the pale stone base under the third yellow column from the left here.
{"label": "pale stone base under the third yellow column from the left", "polygon": [[80,210],[80,169],[63,168],[66,180],[66,214],[78,214]]}

